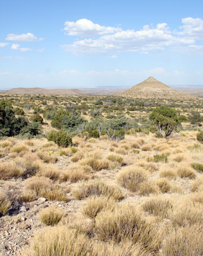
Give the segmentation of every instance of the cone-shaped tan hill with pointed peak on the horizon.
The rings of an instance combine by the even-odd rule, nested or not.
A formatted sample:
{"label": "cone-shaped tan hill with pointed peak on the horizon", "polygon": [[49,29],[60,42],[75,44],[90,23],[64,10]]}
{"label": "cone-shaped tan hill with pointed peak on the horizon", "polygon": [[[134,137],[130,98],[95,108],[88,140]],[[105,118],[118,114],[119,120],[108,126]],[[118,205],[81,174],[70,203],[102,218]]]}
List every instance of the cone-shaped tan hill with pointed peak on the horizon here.
{"label": "cone-shaped tan hill with pointed peak on the horizon", "polygon": [[149,77],[142,83],[134,85],[132,88],[125,90],[122,93],[117,93],[117,96],[130,98],[164,98],[164,99],[190,99],[196,98],[183,92],[179,92],[170,88],[166,84],[161,83],[153,77]]}

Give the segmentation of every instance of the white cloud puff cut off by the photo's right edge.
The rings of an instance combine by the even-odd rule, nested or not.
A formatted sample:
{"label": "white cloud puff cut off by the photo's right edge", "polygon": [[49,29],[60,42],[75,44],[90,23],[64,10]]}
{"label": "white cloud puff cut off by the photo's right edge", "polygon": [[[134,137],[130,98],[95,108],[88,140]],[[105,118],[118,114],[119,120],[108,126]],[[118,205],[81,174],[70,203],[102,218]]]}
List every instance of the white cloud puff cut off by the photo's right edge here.
{"label": "white cloud puff cut off by the photo's right edge", "polygon": [[182,19],[183,29],[178,34],[183,36],[195,37],[197,40],[203,38],[203,20],[200,18],[193,19],[191,17]]}

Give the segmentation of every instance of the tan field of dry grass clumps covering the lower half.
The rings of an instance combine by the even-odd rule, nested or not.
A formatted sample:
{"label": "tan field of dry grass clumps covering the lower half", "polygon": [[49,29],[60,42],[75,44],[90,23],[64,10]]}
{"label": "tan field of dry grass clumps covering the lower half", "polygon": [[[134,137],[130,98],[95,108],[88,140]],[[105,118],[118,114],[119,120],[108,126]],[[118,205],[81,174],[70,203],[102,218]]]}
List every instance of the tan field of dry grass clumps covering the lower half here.
{"label": "tan field of dry grass clumps covering the lower half", "polygon": [[196,133],[1,141],[1,254],[202,255]]}

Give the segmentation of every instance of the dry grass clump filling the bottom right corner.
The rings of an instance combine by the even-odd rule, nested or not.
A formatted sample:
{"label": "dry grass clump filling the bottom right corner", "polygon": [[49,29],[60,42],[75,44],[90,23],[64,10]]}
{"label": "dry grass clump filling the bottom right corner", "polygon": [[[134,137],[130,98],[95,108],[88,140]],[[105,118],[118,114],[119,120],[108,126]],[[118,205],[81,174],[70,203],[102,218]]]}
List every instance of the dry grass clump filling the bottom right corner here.
{"label": "dry grass clump filling the bottom right corner", "polygon": [[203,255],[202,231],[197,225],[171,230],[163,241],[162,255]]}

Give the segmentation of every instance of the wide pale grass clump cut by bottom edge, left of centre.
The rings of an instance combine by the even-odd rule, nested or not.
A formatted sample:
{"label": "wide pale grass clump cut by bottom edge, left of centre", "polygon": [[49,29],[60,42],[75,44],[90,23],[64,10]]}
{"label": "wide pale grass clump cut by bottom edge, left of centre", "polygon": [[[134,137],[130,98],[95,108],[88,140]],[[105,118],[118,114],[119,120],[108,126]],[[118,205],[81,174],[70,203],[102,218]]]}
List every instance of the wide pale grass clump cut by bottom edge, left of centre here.
{"label": "wide pale grass clump cut by bottom edge, left of centre", "polygon": [[46,227],[36,232],[30,248],[25,251],[27,256],[67,256],[91,255],[92,244],[89,237],[76,229],[67,226]]}

